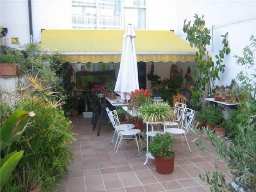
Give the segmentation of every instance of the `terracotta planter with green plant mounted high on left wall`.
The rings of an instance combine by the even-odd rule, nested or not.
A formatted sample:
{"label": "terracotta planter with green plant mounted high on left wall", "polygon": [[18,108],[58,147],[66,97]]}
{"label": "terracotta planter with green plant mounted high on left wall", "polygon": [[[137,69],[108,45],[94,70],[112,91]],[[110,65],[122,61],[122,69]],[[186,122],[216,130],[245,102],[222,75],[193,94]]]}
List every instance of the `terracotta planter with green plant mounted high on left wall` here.
{"label": "terracotta planter with green plant mounted high on left wall", "polygon": [[14,54],[1,54],[0,57],[0,75],[10,76],[16,75],[19,72],[17,58]]}

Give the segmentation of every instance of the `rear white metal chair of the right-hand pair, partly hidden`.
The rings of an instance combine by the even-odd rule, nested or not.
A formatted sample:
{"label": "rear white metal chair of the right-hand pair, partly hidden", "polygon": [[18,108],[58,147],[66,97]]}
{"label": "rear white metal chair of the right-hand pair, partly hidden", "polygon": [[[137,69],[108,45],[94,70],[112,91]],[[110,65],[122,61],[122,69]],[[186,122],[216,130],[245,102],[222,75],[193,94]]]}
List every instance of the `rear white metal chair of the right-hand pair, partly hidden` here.
{"label": "rear white metal chair of the right-hand pair, partly hidden", "polygon": [[[179,127],[182,122],[183,114],[184,114],[186,107],[187,107],[186,104],[176,102],[175,107],[174,107],[173,121],[164,122],[165,126]],[[162,123],[162,125],[163,125],[163,123]]]}

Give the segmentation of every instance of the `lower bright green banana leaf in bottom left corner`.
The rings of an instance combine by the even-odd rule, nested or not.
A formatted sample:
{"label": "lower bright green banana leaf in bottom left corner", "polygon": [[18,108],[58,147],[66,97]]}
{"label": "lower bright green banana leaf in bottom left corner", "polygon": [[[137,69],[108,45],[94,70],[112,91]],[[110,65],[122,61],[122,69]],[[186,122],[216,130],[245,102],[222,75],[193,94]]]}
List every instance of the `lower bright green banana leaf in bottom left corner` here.
{"label": "lower bright green banana leaf in bottom left corner", "polygon": [[5,158],[1,159],[1,169],[0,169],[0,187],[5,185],[9,180],[11,173],[14,171],[15,167],[18,165],[20,159],[23,157],[24,151],[14,151]]}

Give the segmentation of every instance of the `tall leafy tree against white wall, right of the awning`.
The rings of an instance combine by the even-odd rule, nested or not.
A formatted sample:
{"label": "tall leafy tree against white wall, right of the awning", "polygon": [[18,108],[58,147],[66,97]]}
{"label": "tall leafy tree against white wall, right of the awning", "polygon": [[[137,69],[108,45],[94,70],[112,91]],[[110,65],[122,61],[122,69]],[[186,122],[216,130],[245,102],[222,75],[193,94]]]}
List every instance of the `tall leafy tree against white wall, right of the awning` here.
{"label": "tall leafy tree against white wall, right of the awning", "polygon": [[[219,78],[219,72],[224,72],[225,64],[223,64],[224,56],[230,53],[228,47],[227,33],[222,35],[223,48],[215,55],[217,61],[214,63],[212,56],[208,54],[206,49],[210,45],[211,30],[205,27],[204,16],[200,18],[197,14],[194,16],[193,24],[191,21],[184,21],[183,32],[187,34],[186,40],[189,41],[191,47],[198,49],[195,56],[195,67],[193,76],[195,84],[191,86],[192,92],[191,103],[196,106],[199,99],[204,95],[208,96],[208,92],[215,88],[214,81]],[[204,94],[205,93],[205,94]]]}

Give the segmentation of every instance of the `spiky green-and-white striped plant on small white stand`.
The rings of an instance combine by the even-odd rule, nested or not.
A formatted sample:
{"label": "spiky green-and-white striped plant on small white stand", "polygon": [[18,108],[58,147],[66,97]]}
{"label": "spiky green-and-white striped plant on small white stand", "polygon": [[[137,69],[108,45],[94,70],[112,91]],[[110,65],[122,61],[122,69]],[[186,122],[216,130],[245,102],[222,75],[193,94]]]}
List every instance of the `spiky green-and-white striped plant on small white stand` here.
{"label": "spiky green-and-white striped plant on small white stand", "polygon": [[146,103],[140,106],[138,113],[145,122],[170,121],[174,115],[173,109],[166,102]]}

